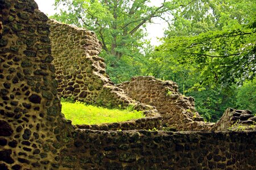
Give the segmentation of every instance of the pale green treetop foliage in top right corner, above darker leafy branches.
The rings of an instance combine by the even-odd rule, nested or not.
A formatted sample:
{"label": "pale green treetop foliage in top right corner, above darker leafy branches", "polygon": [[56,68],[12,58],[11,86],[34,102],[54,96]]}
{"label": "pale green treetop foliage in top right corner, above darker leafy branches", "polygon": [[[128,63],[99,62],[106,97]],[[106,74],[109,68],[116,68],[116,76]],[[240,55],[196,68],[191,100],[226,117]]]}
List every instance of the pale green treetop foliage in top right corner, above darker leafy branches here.
{"label": "pale green treetop foliage in top right corner, above darker leafy branches", "polygon": [[195,36],[208,31],[236,29],[255,16],[254,0],[197,0],[177,8],[166,32],[171,36]]}

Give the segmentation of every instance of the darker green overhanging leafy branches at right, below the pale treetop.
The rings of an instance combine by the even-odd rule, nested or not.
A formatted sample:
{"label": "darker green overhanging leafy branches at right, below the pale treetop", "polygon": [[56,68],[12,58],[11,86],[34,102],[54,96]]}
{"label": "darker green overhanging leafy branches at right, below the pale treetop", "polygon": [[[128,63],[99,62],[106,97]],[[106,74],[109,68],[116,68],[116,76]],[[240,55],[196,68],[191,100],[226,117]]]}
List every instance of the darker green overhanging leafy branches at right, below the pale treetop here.
{"label": "darker green overhanging leafy branches at right, below the pale treetop", "polygon": [[234,82],[242,85],[256,74],[256,27],[210,31],[193,37],[171,37],[160,46],[177,62],[190,63],[201,71],[201,86]]}

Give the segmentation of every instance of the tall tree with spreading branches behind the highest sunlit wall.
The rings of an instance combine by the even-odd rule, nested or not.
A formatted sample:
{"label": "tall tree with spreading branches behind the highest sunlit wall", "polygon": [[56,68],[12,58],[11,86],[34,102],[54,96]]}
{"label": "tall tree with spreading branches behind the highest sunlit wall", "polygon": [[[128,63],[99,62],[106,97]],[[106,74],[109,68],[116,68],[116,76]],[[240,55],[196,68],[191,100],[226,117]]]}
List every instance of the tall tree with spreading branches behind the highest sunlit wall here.
{"label": "tall tree with spreading branches behind the highest sunlit wall", "polygon": [[56,0],[55,6],[60,8],[60,14],[51,18],[96,32],[103,44],[101,56],[106,59],[110,77],[119,82],[117,76],[130,73],[132,66],[140,65],[143,48],[151,48],[145,39],[146,23],[154,18],[167,20],[165,14],[179,3],[164,0],[156,7],[150,6],[150,0]]}

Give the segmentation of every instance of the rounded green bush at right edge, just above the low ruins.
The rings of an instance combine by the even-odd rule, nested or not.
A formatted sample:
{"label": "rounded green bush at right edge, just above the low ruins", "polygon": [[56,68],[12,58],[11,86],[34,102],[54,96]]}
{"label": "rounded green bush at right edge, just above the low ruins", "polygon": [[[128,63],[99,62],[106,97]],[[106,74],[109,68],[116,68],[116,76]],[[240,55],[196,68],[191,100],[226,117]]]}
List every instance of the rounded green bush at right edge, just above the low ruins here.
{"label": "rounded green bush at right edge, just above the low ruins", "polygon": [[256,79],[248,81],[238,88],[237,107],[249,109],[253,114],[256,114]]}

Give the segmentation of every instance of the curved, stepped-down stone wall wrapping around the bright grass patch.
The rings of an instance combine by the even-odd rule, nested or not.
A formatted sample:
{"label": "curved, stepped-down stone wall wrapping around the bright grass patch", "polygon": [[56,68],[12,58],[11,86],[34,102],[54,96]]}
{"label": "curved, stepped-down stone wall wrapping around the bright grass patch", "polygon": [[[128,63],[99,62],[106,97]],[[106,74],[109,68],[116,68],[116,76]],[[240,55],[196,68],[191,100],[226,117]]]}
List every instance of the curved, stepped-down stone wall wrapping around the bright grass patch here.
{"label": "curved, stepped-down stone wall wrapping around the bright grass patch", "polygon": [[115,87],[106,75],[104,59],[98,57],[101,42],[92,31],[49,20],[53,65],[56,68],[60,97],[72,97],[110,108],[126,108],[134,105],[144,111],[146,119],[104,125],[82,125],[78,128],[93,130],[132,130],[162,128],[162,117],[150,105],[134,101],[121,88]]}

